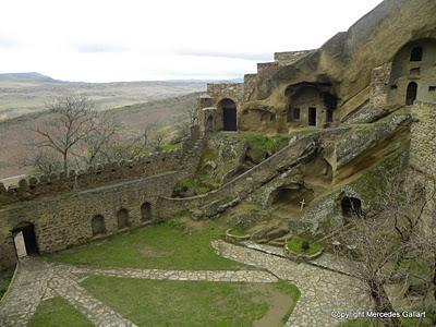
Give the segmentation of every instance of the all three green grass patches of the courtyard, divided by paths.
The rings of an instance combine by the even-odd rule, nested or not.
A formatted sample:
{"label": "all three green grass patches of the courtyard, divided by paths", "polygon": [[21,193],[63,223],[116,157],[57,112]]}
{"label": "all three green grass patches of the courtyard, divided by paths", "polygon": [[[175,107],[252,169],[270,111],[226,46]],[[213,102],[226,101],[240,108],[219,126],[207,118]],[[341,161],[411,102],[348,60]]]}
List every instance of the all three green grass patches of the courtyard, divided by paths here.
{"label": "all three green grass patches of the courtyard, divided by paths", "polygon": [[[218,256],[210,241],[226,227],[186,217],[48,256],[94,267],[169,270],[256,269]],[[148,280],[88,276],[81,286],[137,326],[283,326],[300,298],[287,282]],[[90,326],[66,300],[44,301],[31,326]]]}

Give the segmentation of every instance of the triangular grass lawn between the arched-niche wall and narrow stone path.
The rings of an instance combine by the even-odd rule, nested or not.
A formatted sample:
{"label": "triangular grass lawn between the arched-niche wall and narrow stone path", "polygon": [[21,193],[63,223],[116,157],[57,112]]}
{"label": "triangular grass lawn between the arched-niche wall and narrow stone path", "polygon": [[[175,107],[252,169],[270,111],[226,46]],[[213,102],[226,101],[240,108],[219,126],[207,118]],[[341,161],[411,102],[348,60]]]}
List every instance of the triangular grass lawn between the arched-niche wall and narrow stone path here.
{"label": "triangular grass lawn between the arched-niche wall and narrow stone path", "polygon": [[210,241],[223,233],[225,228],[214,221],[182,222],[178,218],[52,254],[49,259],[105,267],[246,269],[247,266],[220,257],[213,251]]}

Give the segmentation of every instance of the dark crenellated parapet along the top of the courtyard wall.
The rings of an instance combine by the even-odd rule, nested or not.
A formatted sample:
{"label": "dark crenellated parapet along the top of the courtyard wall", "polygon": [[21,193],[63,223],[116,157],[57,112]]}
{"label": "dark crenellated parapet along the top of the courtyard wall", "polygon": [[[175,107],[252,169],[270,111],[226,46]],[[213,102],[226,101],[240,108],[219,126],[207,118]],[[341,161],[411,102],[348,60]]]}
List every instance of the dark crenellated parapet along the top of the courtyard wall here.
{"label": "dark crenellated parapet along the top of the courtyard wall", "polygon": [[182,149],[154,153],[136,160],[97,165],[88,167],[86,171],[72,170],[68,174],[59,172],[50,175],[28,177],[20,180],[19,185],[9,189],[0,183],[0,207],[41,196],[56,196],[60,193],[141,179],[167,171],[192,172],[197,165],[198,152],[202,150],[197,144],[198,137],[199,131],[196,126],[191,130],[191,136],[183,142]]}

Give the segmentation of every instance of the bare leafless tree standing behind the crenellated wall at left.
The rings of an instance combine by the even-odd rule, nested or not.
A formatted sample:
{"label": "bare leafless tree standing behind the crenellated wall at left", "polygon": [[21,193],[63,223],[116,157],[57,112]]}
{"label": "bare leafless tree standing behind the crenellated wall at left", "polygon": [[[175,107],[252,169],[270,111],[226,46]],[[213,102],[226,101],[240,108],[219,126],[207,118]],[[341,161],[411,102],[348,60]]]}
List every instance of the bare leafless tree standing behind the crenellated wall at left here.
{"label": "bare leafless tree standing behind the crenellated wall at left", "polygon": [[55,99],[49,112],[52,119],[34,129],[34,145],[59,153],[63,171],[68,172],[70,153],[96,130],[95,105],[84,96],[66,96]]}

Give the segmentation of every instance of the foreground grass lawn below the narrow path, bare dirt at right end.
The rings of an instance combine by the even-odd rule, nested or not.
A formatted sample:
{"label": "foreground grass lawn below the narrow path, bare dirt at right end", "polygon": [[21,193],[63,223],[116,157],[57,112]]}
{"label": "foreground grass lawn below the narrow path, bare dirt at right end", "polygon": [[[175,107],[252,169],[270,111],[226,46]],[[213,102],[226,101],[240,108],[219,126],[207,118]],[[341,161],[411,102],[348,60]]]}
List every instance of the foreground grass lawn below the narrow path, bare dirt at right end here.
{"label": "foreground grass lawn below the narrow path, bare dirt at right end", "polygon": [[282,326],[299,298],[287,282],[135,280],[93,276],[82,284],[138,326]]}

